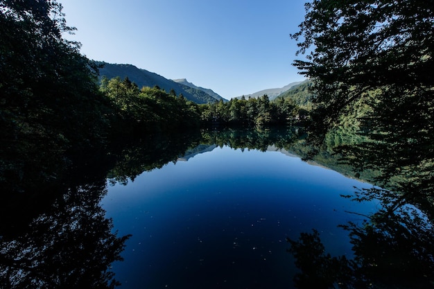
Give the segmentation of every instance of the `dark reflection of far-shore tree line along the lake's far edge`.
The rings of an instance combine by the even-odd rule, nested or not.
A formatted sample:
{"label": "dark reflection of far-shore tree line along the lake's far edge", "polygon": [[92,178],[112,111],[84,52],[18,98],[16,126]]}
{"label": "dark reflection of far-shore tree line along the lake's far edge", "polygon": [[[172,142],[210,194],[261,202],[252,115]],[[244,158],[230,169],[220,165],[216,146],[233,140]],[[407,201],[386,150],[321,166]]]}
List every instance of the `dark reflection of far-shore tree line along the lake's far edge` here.
{"label": "dark reflection of far-shore tree line along the lake's far edge", "polygon": [[297,128],[202,130],[185,134],[159,135],[140,139],[125,146],[108,173],[111,184],[128,184],[144,171],[161,168],[168,162],[200,151],[202,146],[229,146],[230,148],[266,151],[268,146],[290,148],[300,140]]}

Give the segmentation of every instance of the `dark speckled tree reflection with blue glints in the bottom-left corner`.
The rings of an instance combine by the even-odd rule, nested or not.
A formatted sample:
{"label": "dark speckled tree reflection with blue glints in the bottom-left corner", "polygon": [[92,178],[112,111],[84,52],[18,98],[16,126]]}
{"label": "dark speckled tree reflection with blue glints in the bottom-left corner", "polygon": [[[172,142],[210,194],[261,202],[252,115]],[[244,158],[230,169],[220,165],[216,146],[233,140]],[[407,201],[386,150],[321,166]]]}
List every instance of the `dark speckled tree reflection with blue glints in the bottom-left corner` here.
{"label": "dark speckled tree reflection with blue glints in the bottom-left corner", "polygon": [[69,189],[14,236],[0,238],[1,288],[114,288],[125,240],[99,202],[105,182]]}

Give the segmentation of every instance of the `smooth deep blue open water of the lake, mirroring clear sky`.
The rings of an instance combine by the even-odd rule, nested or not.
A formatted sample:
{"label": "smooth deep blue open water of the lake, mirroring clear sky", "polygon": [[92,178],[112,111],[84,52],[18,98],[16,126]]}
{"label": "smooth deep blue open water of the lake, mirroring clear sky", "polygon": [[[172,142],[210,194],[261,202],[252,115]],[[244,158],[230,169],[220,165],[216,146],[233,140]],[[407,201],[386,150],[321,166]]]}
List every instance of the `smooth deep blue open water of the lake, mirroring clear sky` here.
{"label": "smooth deep blue open water of the lake, mirroring clear sky", "polygon": [[108,186],[103,208],[132,234],[113,264],[121,288],[292,288],[286,237],[318,229],[351,256],[338,225],[375,204],[340,197],[370,187],[280,151],[217,147]]}

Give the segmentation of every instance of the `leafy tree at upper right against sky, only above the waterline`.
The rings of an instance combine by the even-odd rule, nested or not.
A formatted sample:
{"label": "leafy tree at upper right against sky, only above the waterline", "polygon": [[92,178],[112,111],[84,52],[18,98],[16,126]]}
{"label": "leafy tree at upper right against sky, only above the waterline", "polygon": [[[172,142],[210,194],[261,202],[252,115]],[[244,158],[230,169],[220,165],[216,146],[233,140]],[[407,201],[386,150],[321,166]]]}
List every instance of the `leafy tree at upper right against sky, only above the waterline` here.
{"label": "leafy tree at upper right against sky, only above the waterline", "polygon": [[432,0],[306,3],[300,31],[291,36],[302,40],[298,53],[307,54],[295,66],[314,82],[317,134],[324,134],[354,103],[370,100],[372,91],[378,97],[370,104],[390,110],[384,120],[389,123],[395,112],[411,118],[415,111],[408,110],[408,103],[416,111],[433,107],[433,6]]}

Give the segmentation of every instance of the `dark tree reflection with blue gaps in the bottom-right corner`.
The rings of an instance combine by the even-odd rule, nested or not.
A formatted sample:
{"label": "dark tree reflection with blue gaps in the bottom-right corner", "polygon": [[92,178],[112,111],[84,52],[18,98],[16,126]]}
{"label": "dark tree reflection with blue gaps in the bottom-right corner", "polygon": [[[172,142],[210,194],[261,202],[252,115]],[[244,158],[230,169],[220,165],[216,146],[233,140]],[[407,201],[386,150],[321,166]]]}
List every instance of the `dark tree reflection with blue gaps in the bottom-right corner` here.
{"label": "dark tree reflection with blue gaps in the bottom-right corner", "polygon": [[[376,192],[374,192],[376,191]],[[376,194],[383,190],[359,193]],[[389,195],[389,193],[386,193]],[[360,200],[360,199],[358,199]],[[388,200],[390,201],[390,199]],[[360,224],[342,225],[349,231],[354,259],[324,253],[318,231],[289,240],[301,272],[294,278],[297,288],[433,288],[434,230],[426,214],[412,205],[395,207],[399,198],[383,204]],[[392,209],[392,210],[391,210]]]}

